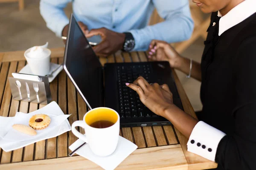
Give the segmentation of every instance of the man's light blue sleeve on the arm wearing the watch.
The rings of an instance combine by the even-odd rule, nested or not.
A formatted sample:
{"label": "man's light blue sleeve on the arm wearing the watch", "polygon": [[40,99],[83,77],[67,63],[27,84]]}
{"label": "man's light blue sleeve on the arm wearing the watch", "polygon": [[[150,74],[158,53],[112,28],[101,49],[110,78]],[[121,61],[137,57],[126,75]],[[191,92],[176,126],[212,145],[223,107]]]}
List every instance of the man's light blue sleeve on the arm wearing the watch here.
{"label": "man's light blue sleeve on the arm wearing the watch", "polygon": [[189,39],[192,34],[194,23],[188,0],[153,0],[153,3],[165,21],[129,31],[135,39],[134,51],[147,50],[151,40],[179,42]]}

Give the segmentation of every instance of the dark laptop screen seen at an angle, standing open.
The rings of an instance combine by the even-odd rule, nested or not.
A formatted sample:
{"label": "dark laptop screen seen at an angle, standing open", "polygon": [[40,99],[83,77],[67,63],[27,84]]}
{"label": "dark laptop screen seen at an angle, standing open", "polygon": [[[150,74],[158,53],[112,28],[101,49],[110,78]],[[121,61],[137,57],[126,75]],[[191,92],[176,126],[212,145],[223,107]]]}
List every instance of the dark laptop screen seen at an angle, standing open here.
{"label": "dark laptop screen seen at an angle, standing open", "polygon": [[73,14],[70,16],[64,70],[90,109],[103,106],[102,65]]}

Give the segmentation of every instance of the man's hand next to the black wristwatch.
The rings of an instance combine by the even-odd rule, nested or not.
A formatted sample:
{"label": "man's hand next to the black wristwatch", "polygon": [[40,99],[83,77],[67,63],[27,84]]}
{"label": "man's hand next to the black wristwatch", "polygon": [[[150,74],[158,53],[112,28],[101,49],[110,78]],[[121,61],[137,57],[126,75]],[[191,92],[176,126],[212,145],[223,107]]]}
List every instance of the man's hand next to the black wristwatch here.
{"label": "man's hand next to the black wristwatch", "polygon": [[102,42],[93,47],[98,56],[107,57],[110,54],[121,50],[125,41],[125,34],[111,31],[107,28],[92,29],[86,37],[100,35]]}

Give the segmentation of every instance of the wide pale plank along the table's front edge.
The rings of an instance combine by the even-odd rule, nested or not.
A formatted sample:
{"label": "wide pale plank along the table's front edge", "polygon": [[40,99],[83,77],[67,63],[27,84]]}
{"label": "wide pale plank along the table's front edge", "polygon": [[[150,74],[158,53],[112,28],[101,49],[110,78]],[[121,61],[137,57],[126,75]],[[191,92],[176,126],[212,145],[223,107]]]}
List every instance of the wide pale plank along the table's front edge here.
{"label": "wide pale plank along the table's front edge", "polygon": [[[116,170],[187,170],[180,144],[137,149]],[[102,170],[81,156],[0,165],[1,170]]]}

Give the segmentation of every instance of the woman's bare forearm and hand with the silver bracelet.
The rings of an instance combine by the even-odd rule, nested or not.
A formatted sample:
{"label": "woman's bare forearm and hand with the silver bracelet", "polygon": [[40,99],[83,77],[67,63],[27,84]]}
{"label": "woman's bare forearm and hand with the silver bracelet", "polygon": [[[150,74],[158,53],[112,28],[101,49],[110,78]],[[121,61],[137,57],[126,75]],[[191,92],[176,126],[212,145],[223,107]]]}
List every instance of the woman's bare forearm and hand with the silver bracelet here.
{"label": "woman's bare forearm and hand with the silver bracelet", "polygon": [[[153,61],[168,61],[172,68],[189,75],[190,59],[181,57],[167,42],[152,40],[149,45],[148,58]],[[201,81],[201,65],[192,61],[191,77]]]}

